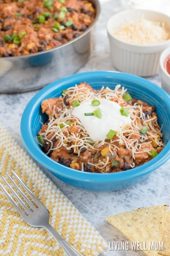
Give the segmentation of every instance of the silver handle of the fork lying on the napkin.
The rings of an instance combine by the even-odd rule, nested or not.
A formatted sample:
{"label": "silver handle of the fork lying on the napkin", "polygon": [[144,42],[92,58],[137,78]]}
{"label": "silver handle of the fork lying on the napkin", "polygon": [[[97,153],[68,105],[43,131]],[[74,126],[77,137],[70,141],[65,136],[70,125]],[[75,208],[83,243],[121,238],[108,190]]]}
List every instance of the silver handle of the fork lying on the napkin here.
{"label": "silver handle of the fork lying on the napkin", "polygon": [[45,225],[44,228],[55,238],[68,256],[82,256],[76,249],[68,244],[49,223]]}

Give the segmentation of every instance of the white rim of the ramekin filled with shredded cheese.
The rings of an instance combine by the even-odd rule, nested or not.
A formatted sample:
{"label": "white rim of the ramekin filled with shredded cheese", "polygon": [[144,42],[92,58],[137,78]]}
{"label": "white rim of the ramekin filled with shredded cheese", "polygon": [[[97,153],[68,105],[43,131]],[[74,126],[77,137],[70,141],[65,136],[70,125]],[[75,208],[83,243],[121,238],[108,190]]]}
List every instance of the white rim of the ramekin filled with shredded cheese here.
{"label": "white rim of the ramekin filled with shredded cheese", "polygon": [[149,45],[132,44],[132,43],[128,43],[128,42],[123,41],[123,40],[119,39],[118,37],[114,36],[114,34],[110,32],[110,28],[109,28],[111,19],[112,19],[113,17],[116,17],[116,16],[120,16],[120,15],[123,16],[124,14],[126,14],[126,13],[128,13],[128,12],[151,12],[151,13],[155,13],[155,14],[158,14],[158,15],[161,14],[161,15],[167,17],[167,18],[169,19],[169,22],[170,22],[170,16],[166,15],[166,14],[163,13],[163,12],[158,12],[158,11],[153,11],[153,10],[147,10],[147,9],[130,9],[130,10],[125,10],[125,11],[117,12],[117,13],[115,13],[114,15],[112,15],[112,16],[110,17],[110,19],[108,20],[108,22],[107,22],[107,32],[108,32],[108,34],[109,34],[111,37],[113,37],[115,40],[117,40],[118,42],[121,42],[121,43],[123,43],[123,44],[125,44],[125,45],[134,46],[134,47],[136,47],[137,49],[139,49],[139,48],[148,48],[148,49],[150,49],[150,48],[156,48],[156,47],[159,47],[159,46],[168,44],[168,43],[170,42],[170,39],[168,39],[168,40],[166,40],[165,42],[162,42],[162,43],[159,43],[159,44],[149,44]]}

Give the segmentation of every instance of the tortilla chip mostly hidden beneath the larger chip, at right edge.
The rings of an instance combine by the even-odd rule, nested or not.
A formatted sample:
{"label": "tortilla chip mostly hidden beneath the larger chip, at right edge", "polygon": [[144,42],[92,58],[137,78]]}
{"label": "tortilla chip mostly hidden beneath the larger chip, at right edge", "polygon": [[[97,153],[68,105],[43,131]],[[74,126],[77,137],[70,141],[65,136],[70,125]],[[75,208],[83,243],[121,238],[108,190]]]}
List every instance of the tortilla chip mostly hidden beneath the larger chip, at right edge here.
{"label": "tortilla chip mostly hidden beneath the larger chip, at right edge", "polygon": [[162,241],[164,242],[164,250],[159,251],[159,253],[170,256],[170,212],[167,212],[166,215]]}

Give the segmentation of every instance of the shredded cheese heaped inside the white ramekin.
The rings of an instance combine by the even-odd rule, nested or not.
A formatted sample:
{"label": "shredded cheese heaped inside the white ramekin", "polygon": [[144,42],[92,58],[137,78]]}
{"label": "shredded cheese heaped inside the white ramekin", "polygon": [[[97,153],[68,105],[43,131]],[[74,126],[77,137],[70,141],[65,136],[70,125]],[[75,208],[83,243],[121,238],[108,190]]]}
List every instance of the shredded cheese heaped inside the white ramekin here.
{"label": "shredded cheese heaped inside the white ramekin", "polygon": [[159,44],[170,39],[170,31],[164,22],[146,20],[132,21],[114,29],[114,35],[131,44]]}

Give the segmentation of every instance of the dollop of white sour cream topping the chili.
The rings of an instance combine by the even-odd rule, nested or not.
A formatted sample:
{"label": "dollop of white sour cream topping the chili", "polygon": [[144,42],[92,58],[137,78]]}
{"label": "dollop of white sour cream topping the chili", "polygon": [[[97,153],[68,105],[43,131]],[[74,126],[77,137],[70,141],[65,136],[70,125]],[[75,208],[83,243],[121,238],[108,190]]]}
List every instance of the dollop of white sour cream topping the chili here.
{"label": "dollop of white sour cream topping the chili", "polygon": [[[82,102],[80,106],[73,109],[72,115],[77,117],[84,126],[93,141],[105,140],[110,129],[117,132],[118,128],[125,124],[131,124],[130,115],[122,116],[121,106],[107,99],[98,99],[99,106],[93,106],[92,100]],[[96,108],[100,108],[102,118],[96,116],[85,116],[84,113],[91,113]]]}

